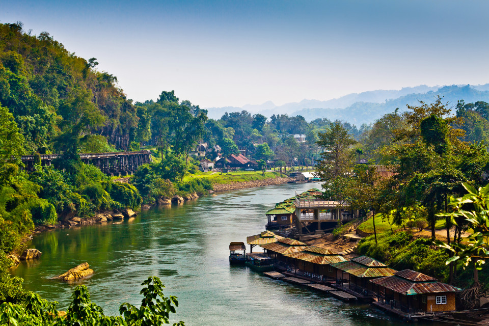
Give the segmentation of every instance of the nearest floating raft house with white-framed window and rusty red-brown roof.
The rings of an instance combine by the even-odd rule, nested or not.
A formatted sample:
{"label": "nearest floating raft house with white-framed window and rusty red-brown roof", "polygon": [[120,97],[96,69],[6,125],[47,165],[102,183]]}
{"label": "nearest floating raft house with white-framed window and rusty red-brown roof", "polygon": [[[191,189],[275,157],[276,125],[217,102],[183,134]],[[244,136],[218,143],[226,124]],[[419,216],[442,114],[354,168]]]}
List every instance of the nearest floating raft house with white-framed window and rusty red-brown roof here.
{"label": "nearest floating raft house with white-framed window and rusty red-brown roof", "polygon": [[444,312],[455,310],[459,288],[411,269],[370,280],[377,305],[387,305],[403,312]]}

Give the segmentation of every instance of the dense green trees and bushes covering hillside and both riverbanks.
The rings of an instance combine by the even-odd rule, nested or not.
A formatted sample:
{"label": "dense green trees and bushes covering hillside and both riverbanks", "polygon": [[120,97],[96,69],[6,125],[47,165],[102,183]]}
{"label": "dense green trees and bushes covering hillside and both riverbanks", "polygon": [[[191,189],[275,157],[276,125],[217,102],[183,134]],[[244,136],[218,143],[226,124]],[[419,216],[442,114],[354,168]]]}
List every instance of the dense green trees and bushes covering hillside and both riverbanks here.
{"label": "dense green trees and bushes covering hillside and both riverbanks", "polygon": [[[200,141],[209,148],[219,145],[224,156],[238,153],[239,146],[255,159],[275,157],[280,169],[310,166],[321,158],[318,169],[327,184],[325,196],[374,211],[374,221],[382,218],[401,225],[406,219],[425,220],[431,225],[430,240],[435,238],[437,213],[451,212],[450,196],[466,194],[461,182],[476,188],[487,183],[483,176],[489,171],[485,143],[489,104],[485,102],[460,101],[456,116],[451,116],[439,99],[431,105],[408,107],[403,115],[397,111],[387,114],[360,128],[327,118],[308,123],[301,116],[274,115],[267,120],[246,111],[214,120],[173,91],[161,92],[156,101],[133,103],[117,87],[117,77],[98,71],[97,65],[95,58],[87,61],[75,56],[46,32],[33,36],[23,31],[21,22],[0,24],[0,320],[7,324],[151,324],[166,320],[174,312],[176,299],[162,295],[156,278],[143,283],[141,308],[124,305],[123,317],[103,316],[82,286],[75,289],[67,317],[58,318],[54,303],[24,291],[22,280],[10,276],[12,263],[6,255],[37,225],[55,224],[75,215],[86,218],[105,210],[136,209],[177,194],[206,193],[216,177],[198,177],[197,161],[190,154]],[[294,133],[305,133],[306,142],[298,143],[291,136]],[[155,162],[142,166],[131,184],[111,181],[77,156],[139,150],[141,145],[155,148]],[[34,154],[37,163],[40,154],[60,153],[62,157],[52,167],[38,164],[35,172],[26,174],[19,159],[25,153]],[[214,158],[216,151],[206,155]],[[395,166],[397,174],[389,180],[378,179],[367,166],[355,165],[356,155]],[[278,172],[273,176],[279,176]],[[239,178],[260,176],[243,174]],[[448,278],[453,283],[461,264],[454,257],[466,250],[460,232],[469,229],[471,222],[452,217],[442,218],[447,226],[456,226],[454,251],[432,249],[427,240],[413,242],[409,234],[377,238],[375,227],[372,238],[364,240],[359,250],[387,261],[397,256],[396,248],[402,251],[414,246],[409,247],[410,253],[423,252],[418,255],[421,260],[436,251],[432,267],[414,258],[413,262],[391,263],[432,268],[440,276],[447,274],[441,262],[450,257]],[[478,261],[485,259],[483,254]]]}

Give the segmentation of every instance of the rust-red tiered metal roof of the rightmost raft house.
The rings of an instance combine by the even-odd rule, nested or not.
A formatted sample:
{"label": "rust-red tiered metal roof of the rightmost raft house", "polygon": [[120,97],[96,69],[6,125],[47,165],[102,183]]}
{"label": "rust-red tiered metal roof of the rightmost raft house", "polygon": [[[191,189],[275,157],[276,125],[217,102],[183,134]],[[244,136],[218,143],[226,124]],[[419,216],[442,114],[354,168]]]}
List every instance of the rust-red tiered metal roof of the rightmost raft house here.
{"label": "rust-red tiered metal roof of the rightmost raft house", "polygon": [[[412,271],[405,269],[402,271]],[[414,272],[416,273],[416,272]],[[430,278],[428,276],[428,278]],[[413,282],[408,279],[401,278],[397,275],[382,277],[370,280],[374,284],[383,286],[397,293],[406,295],[426,294],[426,293],[442,293],[442,292],[458,292],[461,289],[438,281],[419,281]]]}

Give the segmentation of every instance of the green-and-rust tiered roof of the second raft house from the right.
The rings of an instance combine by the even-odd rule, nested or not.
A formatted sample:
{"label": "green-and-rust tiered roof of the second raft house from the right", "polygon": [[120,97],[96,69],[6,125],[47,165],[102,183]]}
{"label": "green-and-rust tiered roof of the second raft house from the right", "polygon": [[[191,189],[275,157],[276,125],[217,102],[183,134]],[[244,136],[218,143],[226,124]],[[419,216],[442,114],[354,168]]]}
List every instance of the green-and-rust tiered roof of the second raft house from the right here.
{"label": "green-and-rust tiered roof of the second raft house from the right", "polygon": [[367,256],[360,256],[352,260],[331,264],[331,266],[359,278],[376,278],[392,276],[395,269]]}

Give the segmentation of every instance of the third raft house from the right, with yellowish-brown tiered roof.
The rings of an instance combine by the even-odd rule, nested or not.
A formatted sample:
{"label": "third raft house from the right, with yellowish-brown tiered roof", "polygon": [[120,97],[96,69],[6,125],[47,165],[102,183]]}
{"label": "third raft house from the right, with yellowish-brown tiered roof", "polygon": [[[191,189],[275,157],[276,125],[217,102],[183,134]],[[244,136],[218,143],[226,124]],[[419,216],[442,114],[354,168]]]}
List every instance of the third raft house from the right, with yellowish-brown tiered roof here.
{"label": "third raft house from the right, with yellowish-brown tiered roof", "polygon": [[301,274],[319,276],[323,281],[335,278],[330,264],[347,261],[332,251],[320,247],[307,247],[303,251],[283,254],[287,265],[300,271]]}

